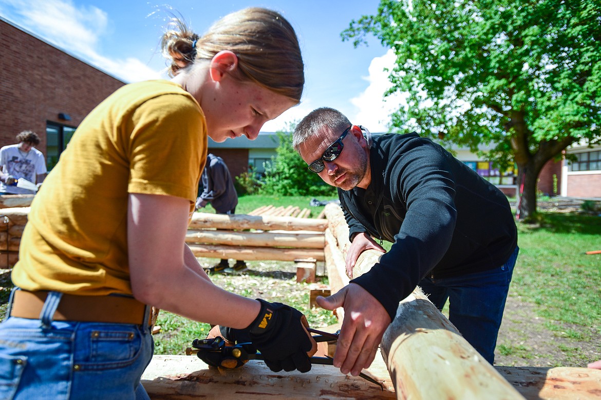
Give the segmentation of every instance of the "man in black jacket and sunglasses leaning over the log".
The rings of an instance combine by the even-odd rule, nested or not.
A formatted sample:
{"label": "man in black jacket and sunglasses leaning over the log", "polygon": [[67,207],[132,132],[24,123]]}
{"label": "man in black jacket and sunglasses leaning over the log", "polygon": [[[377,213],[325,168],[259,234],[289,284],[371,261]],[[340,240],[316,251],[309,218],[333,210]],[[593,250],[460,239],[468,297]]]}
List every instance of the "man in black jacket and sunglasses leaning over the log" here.
{"label": "man in black jacket and sunglasses leaning over the log", "polygon": [[353,375],[370,365],[416,285],[439,309],[449,299],[450,321],[493,363],[518,252],[507,197],[429,139],[386,134],[370,143],[362,127],[326,107],[297,125],[293,146],[338,188],[352,242],[349,276],[361,252],[393,243],[369,272],[318,300],[345,311],[334,365]]}

